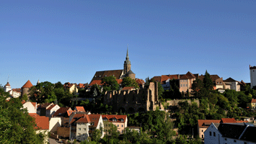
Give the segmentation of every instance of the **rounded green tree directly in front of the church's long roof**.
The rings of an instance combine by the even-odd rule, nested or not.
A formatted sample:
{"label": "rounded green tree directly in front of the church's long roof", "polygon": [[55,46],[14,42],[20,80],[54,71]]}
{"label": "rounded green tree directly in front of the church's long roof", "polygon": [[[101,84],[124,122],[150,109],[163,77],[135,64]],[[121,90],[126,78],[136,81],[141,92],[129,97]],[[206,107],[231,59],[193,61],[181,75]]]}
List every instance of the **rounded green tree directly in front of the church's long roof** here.
{"label": "rounded green tree directly in front of the church's long roof", "polygon": [[119,89],[118,81],[115,80],[114,76],[107,76],[102,78],[103,92],[114,91]]}

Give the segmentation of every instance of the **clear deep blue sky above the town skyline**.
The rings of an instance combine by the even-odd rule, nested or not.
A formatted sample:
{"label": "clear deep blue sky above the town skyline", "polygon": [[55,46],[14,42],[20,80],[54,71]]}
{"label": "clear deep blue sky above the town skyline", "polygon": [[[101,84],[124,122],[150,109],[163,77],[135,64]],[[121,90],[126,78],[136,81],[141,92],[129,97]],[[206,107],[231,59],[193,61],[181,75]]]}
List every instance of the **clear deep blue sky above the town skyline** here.
{"label": "clear deep blue sky above the town skyline", "polygon": [[0,84],[89,83],[123,69],[136,78],[218,74],[250,82],[255,0],[1,1]]}

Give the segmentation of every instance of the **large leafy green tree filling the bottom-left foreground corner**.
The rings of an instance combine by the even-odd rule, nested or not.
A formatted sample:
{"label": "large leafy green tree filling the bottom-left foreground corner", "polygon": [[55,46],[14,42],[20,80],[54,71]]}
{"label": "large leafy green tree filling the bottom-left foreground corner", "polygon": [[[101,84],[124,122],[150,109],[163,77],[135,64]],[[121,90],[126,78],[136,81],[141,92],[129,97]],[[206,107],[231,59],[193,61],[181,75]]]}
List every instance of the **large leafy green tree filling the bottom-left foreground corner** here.
{"label": "large leafy green tree filling the bottom-left foreground corner", "polygon": [[36,134],[35,120],[22,108],[21,99],[6,102],[0,89],[0,143],[43,143],[45,135]]}

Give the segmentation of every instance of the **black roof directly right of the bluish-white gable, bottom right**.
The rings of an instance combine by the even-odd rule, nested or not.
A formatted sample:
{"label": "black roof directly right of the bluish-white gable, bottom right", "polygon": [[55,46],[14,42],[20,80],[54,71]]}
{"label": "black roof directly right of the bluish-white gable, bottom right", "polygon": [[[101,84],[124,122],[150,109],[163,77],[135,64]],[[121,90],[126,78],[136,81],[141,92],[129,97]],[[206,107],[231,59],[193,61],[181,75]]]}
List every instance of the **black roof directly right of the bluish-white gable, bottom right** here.
{"label": "black roof directly right of the bluish-white gable, bottom right", "polygon": [[244,132],[244,128],[246,125],[232,125],[232,124],[224,124],[221,123],[218,127],[221,135],[226,138],[239,139],[242,132]]}

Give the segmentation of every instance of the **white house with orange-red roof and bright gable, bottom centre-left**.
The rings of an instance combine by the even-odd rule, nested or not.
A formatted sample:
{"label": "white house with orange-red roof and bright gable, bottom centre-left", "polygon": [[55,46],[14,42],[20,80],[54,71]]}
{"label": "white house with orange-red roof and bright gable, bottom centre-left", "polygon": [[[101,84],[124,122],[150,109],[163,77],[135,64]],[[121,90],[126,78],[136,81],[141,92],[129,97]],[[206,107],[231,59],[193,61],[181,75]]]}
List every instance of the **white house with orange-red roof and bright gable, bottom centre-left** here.
{"label": "white house with orange-red roof and bright gable, bottom centre-left", "polygon": [[94,130],[102,130],[101,138],[104,137],[104,125],[100,114],[75,112],[74,116],[71,117],[69,139],[87,140],[88,137],[92,137]]}

